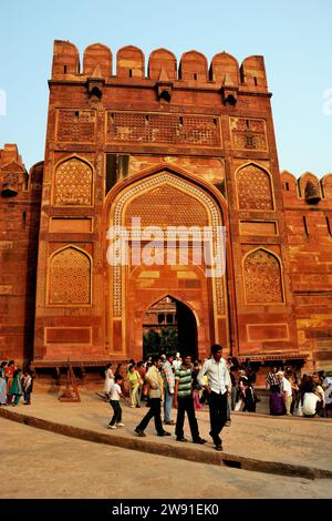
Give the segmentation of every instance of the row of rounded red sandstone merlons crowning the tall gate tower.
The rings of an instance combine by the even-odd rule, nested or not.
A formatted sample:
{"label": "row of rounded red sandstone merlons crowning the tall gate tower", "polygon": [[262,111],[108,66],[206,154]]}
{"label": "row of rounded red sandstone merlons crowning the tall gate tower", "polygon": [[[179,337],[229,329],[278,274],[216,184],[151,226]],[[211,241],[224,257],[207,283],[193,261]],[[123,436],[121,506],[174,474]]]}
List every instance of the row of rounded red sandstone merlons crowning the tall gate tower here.
{"label": "row of rounded red sandstone merlons crowning the tall gate tower", "polygon": [[133,79],[155,82],[190,82],[191,88],[204,83],[219,84],[227,88],[242,86],[245,90],[267,92],[268,82],[263,57],[248,57],[239,65],[236,58],[227,52],[216,54],[208,67],[208,61],[198,51],[184,52],[179,65],[173,52],[156,49],[151,52],[145,74],[145,55],[141,49],[126,45],[116,53],[113,72],[111,49],[101,43],[89,45],[83,54],[83,70],[80,68],[80,53],[70,41],[54,41],[52,80],[72,81],[79,79]]}

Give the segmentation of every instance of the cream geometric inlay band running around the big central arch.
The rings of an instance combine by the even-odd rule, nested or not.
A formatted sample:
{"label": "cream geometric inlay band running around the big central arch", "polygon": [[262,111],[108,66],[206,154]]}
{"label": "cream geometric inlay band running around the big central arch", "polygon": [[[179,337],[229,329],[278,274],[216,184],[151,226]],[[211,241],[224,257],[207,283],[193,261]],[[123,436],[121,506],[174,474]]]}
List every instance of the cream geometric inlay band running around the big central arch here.
{"label": "cream geometric inlay band running around the big central arch", "polygon": [[[123,225],[123,216],[124,211],[127,202],[133,198],[139,192],[146,192],[149,188],[159,187],[163,184],[173,185],[175,188],[187,192],[188,195],[198,198],[201,204],[205,204],[208,207],[210,213],[210,222],[212,228],[212,238],[214,238],[214,252],[216,254],[216,264],[217,266],[222,266],[224,263],[224,254],[222,246],[217,244],[216,237],[218,237],[218,229],[222,226],[221,214],[218,208],[217,203],[209,196],[203,188],[199,186],[194,185],[187,181],[177,177],[176,175],[169,174],[168,172],[160,172],[158,174],[152,175],[151,177],[135,184],[132,186],[127,192],[125,192],[122,197],[117,201],[113,222],[110,223],[111,226],[122,226]],[[153,202],[152,202],[153,204]],[[169,201],[169,205],[172,205],[172,201]],[[194,222],[193,225],[196,223]],[[113,268],[113,315],[115,317],[122,316],[122,295],[123,295],[123,287],[124,280],[122,276],[122,266],[115,265],[112,266]],[[212,282],[215,283],[216,287],[216,296],[217,296],[217,310],[219,314],[225,311],[225,299],[224,299],[224,277],[216,276],[212,277]]]}

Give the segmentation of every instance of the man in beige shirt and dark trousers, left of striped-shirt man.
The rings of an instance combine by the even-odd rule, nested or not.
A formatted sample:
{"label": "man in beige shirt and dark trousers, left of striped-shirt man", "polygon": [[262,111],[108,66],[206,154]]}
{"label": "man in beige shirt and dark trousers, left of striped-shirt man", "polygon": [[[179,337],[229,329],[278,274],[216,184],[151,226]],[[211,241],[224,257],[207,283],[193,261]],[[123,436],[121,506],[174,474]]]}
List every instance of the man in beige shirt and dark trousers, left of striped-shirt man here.
{"label": "man in beige shirt and dark trousers, left of striped-shirt man", "polygon": [[164,380],[160,375],[162,358],[158,356],[153,357],[153,365],[148,369],[145,380],[148,385],[148,399],[149,399],[149,410],[136,427],[135,432],[138,436],[146,436],[144,430],[146,429],[149,420],[155,418],[155,427],[158,436],[170,436],[170,432],[167,432],[163,428],[162,423],[162,399],[164,394]]}

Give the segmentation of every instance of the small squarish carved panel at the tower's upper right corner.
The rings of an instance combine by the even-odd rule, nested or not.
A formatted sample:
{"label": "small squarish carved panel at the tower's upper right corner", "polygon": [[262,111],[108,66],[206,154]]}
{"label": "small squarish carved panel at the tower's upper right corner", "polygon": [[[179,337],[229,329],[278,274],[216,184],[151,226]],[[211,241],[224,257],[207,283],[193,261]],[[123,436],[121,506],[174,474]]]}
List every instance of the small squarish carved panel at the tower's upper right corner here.
{"label": "small squarish carved panel at the tower's upper right corner", "polygon": [[230,118],[232,147],[238,150],[268,150],[266,121]]}

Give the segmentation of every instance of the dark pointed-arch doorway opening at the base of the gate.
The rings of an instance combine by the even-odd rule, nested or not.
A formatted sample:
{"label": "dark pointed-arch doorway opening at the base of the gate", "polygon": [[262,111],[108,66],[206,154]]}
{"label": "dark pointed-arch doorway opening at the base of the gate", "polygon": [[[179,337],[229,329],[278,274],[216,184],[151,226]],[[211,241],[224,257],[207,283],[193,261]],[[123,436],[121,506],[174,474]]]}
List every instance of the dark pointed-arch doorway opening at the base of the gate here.
{"label": "dark pointed-arch doorway opening at the base of the gate", "polygon": [[167,295],[146,310],[143,320],[143,356],[177,353],[197,358],[197,324],[194,313]]}

